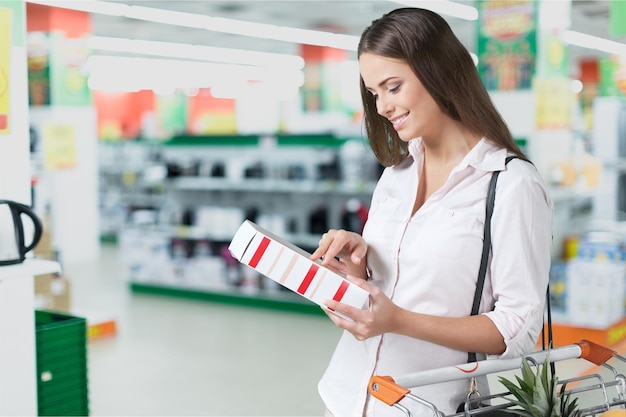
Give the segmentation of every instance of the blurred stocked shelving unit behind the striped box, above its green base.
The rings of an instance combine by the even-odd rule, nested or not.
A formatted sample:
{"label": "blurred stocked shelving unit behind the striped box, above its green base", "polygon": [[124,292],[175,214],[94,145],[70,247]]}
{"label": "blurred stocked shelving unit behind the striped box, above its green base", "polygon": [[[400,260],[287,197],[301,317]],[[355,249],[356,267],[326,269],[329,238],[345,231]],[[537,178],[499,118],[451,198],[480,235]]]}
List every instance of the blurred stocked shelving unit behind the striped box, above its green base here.
{"label": "blurred stocked shelving unit behind the striped box, above its green base", "polygon": [[310,250],[328,228],[362,228],[381,173],[365,142],[333,135],[102,143],[99,157],[101,233],[117,240],[131,289],[296,308],[301,297],[233,258],[237,229],[250,220]]}

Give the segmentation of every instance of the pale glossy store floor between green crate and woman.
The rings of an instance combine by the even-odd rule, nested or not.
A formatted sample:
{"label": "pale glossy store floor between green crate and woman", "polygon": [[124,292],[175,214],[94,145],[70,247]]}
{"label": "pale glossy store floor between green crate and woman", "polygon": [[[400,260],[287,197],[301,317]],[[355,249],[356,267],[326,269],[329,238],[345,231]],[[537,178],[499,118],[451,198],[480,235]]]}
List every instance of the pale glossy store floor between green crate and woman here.
{"label": "pale glossy store floor between green crate and woman", "polygon": [[[132,293],[115,245],[65,274],[76,315],[117,323],[88,344],[91,415],[323,415],[316,385],[340,336],[327,317]],[[598,371],[583,360],[557,370]]]}

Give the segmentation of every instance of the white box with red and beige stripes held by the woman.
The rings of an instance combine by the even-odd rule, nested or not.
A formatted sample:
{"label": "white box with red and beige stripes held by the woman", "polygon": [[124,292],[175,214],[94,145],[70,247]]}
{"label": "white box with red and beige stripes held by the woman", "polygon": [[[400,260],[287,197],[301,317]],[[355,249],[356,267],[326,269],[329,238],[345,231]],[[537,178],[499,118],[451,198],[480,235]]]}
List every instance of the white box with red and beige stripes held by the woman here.
{"label": "white box with red and beige stripes held by the woman", "polygon": [[367,291],[312,261],[311,254],[249,220],[239,227],[228,249],[242,264],[320,306],[329,299],[357,308],[368,305]]}

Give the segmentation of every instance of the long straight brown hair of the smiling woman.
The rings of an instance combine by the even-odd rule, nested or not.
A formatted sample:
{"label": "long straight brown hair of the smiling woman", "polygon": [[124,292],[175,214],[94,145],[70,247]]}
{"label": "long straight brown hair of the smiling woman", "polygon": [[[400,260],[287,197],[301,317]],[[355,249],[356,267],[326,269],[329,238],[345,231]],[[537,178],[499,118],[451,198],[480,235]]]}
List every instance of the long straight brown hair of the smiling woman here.
{"label": "long straight brown hair of the smiling woman", "polygon": [[[493,105],[469,52],[438,14],[407,7],[383,15],[361,35],[358,56],[366,52],[405,61],[445,114],[527,159]],[[377,113],[363,78],[360,85],[372,150],[381,164],[395,165],[406,157],[407,143]]]}

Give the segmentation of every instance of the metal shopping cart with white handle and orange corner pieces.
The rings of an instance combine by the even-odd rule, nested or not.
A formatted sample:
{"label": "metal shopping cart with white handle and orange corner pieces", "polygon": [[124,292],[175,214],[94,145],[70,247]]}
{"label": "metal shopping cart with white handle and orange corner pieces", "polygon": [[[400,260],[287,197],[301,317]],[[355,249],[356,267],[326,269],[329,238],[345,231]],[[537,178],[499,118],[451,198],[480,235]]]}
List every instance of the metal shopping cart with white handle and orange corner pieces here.
{"label": "metal shopping cart with white handle and orange corner pieces", "polygon": [[[580,402],[579,416],[592,416],[608,411],[613,408],[624,408],[626,405],[626,377],[607,362],[618,360],[626,366],[626,358],[618,355],[614,350],[583,340],[573,345],[552,348],[534,352],[528,356],[513,359],[483,360],[478,362],[464,363],[457,366],[448,366],[426,371],[415,372],[399,377],[373,376],[369,381],[368,390],[372,396],[402,411],[411,417],[410,410],[402,401],[412,400],[432,410],[433,416],[443,417],[444,413],[424,398],[411,393],[406,387],[420,387],[440,382],[467,379],[468,377],[497,374],[505,371],[521,369],[522,361],[532,364],[544,363],[546,356],[554,363],[568,359],[585,359],[595,365],[601,365],[608,369],[611,378],[602,376],[599,372],[590,375],[579,376],[561,380],[558,384],[565,385],[565,393],[574,397],[584,397],[585,402]],[[469,390],[468,390],[469,391]],[[469,396],[468,396],[469,397]],[[457,416],[480,416],[481,414],[498,412],[514,406],[512,395],[505,391],[486,396],[472,396],[465,403],[463,411],[449,414],[449,417]],[[481,406],[477,407],[478,402]]]}

